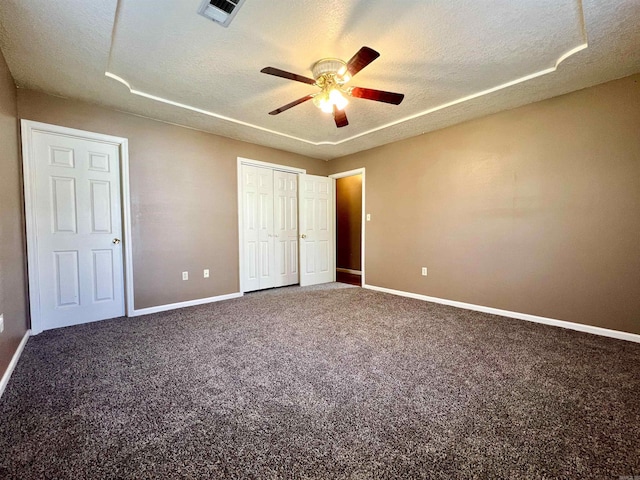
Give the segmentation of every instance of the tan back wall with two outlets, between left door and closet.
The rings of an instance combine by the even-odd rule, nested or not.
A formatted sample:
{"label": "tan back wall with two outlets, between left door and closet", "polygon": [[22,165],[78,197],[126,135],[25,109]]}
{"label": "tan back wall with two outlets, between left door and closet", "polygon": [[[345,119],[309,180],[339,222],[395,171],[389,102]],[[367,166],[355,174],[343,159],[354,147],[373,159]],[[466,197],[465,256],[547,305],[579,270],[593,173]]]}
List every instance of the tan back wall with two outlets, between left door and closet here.
{"label": "tan back wall with two outlets, between left door and closet", "polygon": [[18,111],[129,139],[137,309],[238,291],[237,157],[327,174],[321,160],[35,91],[18,90]]}

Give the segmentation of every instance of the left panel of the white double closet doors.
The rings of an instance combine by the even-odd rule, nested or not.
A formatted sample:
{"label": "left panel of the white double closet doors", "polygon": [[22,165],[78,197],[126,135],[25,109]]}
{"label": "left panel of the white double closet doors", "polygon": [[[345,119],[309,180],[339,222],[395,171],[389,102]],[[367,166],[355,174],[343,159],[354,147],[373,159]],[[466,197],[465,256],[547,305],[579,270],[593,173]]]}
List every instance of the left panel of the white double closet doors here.
{"label": "left panel of the white double closet doors", "polygon": [[273,170],[242,165],[244,291],[275,286]]}

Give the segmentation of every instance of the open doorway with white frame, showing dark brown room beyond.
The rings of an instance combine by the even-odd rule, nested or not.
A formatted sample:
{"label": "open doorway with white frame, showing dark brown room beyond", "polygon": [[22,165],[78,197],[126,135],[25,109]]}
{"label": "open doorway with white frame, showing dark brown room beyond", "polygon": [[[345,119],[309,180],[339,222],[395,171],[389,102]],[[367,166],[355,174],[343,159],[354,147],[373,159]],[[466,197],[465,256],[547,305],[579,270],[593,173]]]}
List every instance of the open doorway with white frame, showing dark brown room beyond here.
{"label": "open doorway with white frame, showing dark brown room beyond", "polygon": [[336,281],[364,284],[364,169],[332,175],[336,190]]}

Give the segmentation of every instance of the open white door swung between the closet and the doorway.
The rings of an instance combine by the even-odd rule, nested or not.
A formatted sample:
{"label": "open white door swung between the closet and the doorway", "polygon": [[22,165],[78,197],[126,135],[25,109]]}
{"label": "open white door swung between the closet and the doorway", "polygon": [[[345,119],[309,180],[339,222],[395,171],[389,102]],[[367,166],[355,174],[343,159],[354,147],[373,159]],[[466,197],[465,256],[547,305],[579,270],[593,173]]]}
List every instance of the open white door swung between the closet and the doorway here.
{"label": "open white door swung between the closet and the doorway", "polygon": [[300,285],[335,280],[333,180],[300,175]]}

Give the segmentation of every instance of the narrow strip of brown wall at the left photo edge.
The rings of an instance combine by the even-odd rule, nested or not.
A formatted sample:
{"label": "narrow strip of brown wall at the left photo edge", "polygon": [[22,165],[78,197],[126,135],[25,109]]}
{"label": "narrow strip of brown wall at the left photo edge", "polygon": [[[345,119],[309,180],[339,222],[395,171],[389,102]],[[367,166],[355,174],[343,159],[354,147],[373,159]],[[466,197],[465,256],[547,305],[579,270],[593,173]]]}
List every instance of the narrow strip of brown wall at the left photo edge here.
{"label": "narrow strip of brown wall at the left photo edge", "polygon": [[0,377],[27,331],[24,218],[16,87],[0,52]]}

